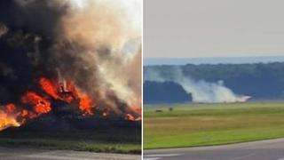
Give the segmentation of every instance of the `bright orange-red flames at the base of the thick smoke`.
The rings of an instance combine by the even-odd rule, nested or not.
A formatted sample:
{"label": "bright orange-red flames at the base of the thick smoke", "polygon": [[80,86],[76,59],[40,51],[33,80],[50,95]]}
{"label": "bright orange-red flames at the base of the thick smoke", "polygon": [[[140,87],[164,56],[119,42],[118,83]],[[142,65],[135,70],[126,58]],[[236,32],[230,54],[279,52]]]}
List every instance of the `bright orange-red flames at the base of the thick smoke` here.
{"label": "bright orange-red flames at the base of the thick smoke", "polygon": [[[61,100],[67,104],[75,103],[83,116],[92,116],[96,108],[99,110],[95,100],[91,99],[87,93],[80,91],[70,80],[58,83],[56,80],[52,81],[42,76],[37,83],[41,92],[25,92],[20,97],[20,104],[9,103],[0,108],[0,131],[12,126],[19,127],[29,119],[51,112],[52,100]],[[140,121],[141,109],[136,107],[130,109],[135,116],[125,113],[124,118],[129,121]],[[101,116],[108,116],[108,114],[109,109],[101,112]]]}

